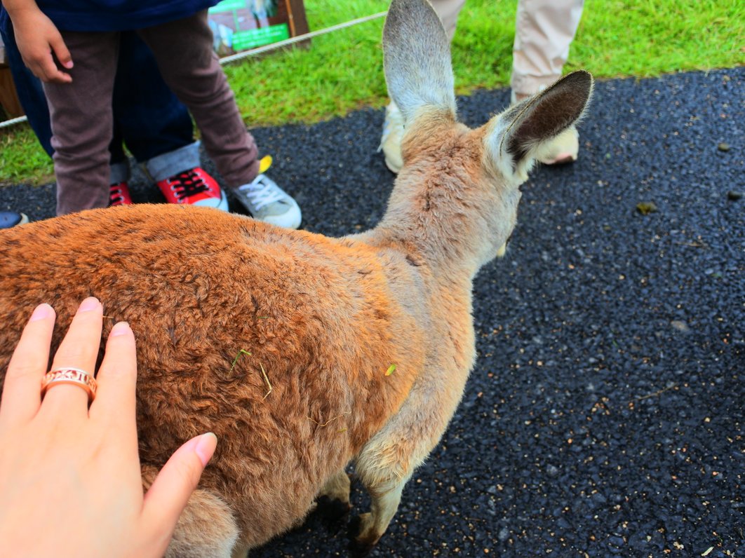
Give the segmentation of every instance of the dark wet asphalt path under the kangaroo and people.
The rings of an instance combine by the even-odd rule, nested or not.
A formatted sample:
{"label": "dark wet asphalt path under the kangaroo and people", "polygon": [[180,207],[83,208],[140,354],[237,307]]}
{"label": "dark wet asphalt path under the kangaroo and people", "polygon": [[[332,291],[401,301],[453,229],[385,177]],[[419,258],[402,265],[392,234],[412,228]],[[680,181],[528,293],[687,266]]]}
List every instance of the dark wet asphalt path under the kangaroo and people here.
{"label": "dark wet asphalt path under the kangaroo and people", "polygon": [[[508,102],[478,92],[459,114],[477,126]],[[382,120],[253,130],[304,228],[381,218]],[[533,173],[506,257],[475,280],[478,362],[373,556],[741,556],[744,147],[743,67],[597,83],[580,159]],[[162,201],[139,173],[133,197]],[[0,208],[51,217],[53,189],[1,188]],[[311,516],[252,557],[346,544]]]}

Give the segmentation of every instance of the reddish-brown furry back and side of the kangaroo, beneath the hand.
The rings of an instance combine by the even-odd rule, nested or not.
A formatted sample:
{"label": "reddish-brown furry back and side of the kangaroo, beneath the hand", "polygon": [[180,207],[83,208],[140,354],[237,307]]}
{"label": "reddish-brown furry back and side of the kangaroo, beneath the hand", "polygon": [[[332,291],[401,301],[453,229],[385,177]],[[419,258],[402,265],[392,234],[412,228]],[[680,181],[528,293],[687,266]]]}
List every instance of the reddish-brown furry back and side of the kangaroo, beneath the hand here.
{"label": "reddish-brown furry back and side of the kangaroo, beneath the hand", "polygon": [[[260,532],[251,538],[303,515],[316,484],[402,404],[423,360],[416,310],[402,311],[378,252],[351,240],[144,205],[7,231],[0,259],[0,380],[35,305],[57,311],[54,354],[77,302],[96,296],[102,339],[127,321],[138,341],[142,463],[162,466],[192,433],[215,432],[202,485],[231,495],[239,525]],[[267,485],[273,501],[259,501],[250,487]]]}

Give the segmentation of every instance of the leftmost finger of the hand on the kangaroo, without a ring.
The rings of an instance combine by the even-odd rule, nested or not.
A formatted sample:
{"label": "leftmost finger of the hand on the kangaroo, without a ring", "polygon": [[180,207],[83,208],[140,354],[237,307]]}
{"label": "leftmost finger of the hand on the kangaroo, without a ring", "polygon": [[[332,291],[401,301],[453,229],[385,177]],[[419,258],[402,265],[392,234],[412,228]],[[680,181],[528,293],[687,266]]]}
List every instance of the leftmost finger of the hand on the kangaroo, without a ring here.
{"label": "leftmost finger of the hand on the kangaroo, without a ring", "polygon": [[54,310],[40,304],[31,314],[10,359],[0,403],[0,424],[24,423],[37,414],[41,380],[49,362]]}

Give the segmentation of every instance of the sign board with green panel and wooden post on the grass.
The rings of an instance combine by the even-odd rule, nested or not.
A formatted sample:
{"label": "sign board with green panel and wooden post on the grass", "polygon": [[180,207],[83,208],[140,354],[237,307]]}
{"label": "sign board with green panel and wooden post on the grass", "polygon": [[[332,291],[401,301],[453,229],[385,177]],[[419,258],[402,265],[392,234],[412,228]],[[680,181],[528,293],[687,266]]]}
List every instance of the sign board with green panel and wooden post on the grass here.
{"label": "sign board with green panel and wooden post on the grass", "polygon": [[308,33],[302,0],[222,0],[209,8],[215,51],[226,57]]}

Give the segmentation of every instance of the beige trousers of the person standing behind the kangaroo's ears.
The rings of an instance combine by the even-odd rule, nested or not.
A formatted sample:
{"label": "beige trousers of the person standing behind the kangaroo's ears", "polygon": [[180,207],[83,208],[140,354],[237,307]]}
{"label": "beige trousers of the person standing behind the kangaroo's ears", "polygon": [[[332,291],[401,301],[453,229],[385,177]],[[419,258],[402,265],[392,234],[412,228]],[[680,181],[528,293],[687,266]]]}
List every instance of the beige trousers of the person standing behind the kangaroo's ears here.
{"label": "beige trousers of the person standing behind the kangaroo's ears", "polygon": [[[466,0],[431,0],[452,40]],[[513,71],[518,97],[539,92],[562,74],[569,45],[580,25],[584,0],[519,0],[515,21]]]}

